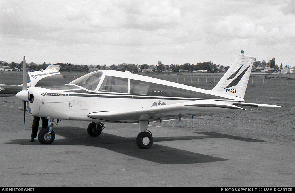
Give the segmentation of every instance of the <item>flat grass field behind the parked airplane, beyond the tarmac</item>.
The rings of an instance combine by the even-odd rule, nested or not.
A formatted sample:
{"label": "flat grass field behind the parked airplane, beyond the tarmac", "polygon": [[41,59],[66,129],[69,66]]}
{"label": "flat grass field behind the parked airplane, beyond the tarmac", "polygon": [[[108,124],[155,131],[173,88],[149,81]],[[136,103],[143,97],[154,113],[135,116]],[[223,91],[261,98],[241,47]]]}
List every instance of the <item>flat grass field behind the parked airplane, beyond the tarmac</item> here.
{"label": "flat grass field behind the parked airplane, beyond the tarmac", "polygon": [[[86,73],[61,72],[68,83]],[[205,74],[142,74],[157,79],[178,82],[201,89],[212,89],[223,73]],[[29,78],[28,78],[29,82]],[[0,72],[0,84],[22,84],[22,72]],[[276,104],[279,108],[248,108],[235,114],[199,117],[181,122],[151,123],[153,125],[213,131],[236,136],[248,136],[270,141],[288,141],[294,144],[295,132],[295,75],[251,73],[245,102]],[[0,104],[5,99],[0,98]]]}

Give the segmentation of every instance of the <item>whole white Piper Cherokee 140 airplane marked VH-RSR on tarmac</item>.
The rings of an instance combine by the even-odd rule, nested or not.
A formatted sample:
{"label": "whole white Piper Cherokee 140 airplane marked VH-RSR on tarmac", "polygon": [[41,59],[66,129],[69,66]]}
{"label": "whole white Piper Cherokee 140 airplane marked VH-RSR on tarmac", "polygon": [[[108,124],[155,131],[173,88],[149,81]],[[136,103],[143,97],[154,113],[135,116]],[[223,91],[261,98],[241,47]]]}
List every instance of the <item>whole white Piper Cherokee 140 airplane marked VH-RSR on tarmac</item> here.
{"label": "whole white Piper Cherokee 140 airplane marked VH-RSR on tarmac", "polygon": [[147,149],[153,144],[147,130],[149,122],[246,110],[242,106],[279,107],[245,103],[254,59],[242,51],[212,90],[130,72],[101,70],[62,86],[31,85],[16,97],[26,102],[32,116],[50,119],[50,126],[38,134],[42,144],[51,144],[55,139],[54,119],[64,119],[92,122],[87,128],[90,136],[99,136],[104,122],[139,123],[136,144]]}

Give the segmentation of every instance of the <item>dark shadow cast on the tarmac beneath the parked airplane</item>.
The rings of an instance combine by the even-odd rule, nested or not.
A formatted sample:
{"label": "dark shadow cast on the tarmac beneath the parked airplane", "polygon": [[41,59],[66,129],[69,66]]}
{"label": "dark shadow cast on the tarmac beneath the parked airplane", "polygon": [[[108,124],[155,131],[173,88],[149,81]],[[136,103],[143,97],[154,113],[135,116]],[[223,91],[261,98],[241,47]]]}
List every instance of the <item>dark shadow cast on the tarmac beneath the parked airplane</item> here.
{"label": "dark shadow cast on the tarmac beneath the parked airplane", "polygon": [[[206,162],[225,161],[219,157],[208,156],[195,152],[189,152],[172,147],[166,147],[159,144],[153,144],[150,149],[139,149],[135,143],[135,137],[120,137],[117,135],[102,132],[99,137],[90,137],[86,129],[80,127],[56,127],[56,135],[65,137],[65,139],[55,139],[51,144],[54,145],[86,145],[91,147],[100,147],[121,154],[137,157],[159,164],[197,164]],[[219,134],[214,132],[196,132],[205,136],[191,137],[154,137],[154,142],[189,140],[189,139],[206,139],[206,138],[229,138],[249,142],[261,142],[262,140],[242,138],[231,135]],[[35,140],[30,142],[29,139],[15,139],[8,144],[19,145],[42,145]],[[54,148],[54,147],[52,147]]]}

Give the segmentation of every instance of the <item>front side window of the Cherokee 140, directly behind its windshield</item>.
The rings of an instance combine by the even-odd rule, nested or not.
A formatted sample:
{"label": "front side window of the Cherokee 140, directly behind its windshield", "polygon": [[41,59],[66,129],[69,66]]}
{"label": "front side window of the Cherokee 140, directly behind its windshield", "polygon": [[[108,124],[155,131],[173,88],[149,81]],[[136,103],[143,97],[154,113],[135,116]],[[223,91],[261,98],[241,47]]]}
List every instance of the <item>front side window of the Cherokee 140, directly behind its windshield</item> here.
{"label": "front side window of the Cherokee 140, directly behind its windshield", "polygon": [[128,80],[127,78],[105,76],[98,91],[127,93]]}

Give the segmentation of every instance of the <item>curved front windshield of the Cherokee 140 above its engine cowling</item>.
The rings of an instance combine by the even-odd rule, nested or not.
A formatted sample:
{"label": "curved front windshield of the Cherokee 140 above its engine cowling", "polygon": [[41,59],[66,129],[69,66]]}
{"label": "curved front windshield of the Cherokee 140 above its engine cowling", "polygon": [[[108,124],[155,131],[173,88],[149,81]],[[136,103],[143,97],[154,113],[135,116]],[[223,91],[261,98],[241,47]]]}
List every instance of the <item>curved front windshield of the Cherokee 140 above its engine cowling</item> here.
{"label": "curved front windshield of the Cherokee 140 above its engine cowling", "polygon": [[96,71],[93,73],[86,74],[82,76],[81,78],[78,78],[77,80],[72,81],[70,84],[76,84],[76,85],[82,86],[85,89],[94,91],[101,79],[101,76],[102,76],[102,72]]}

